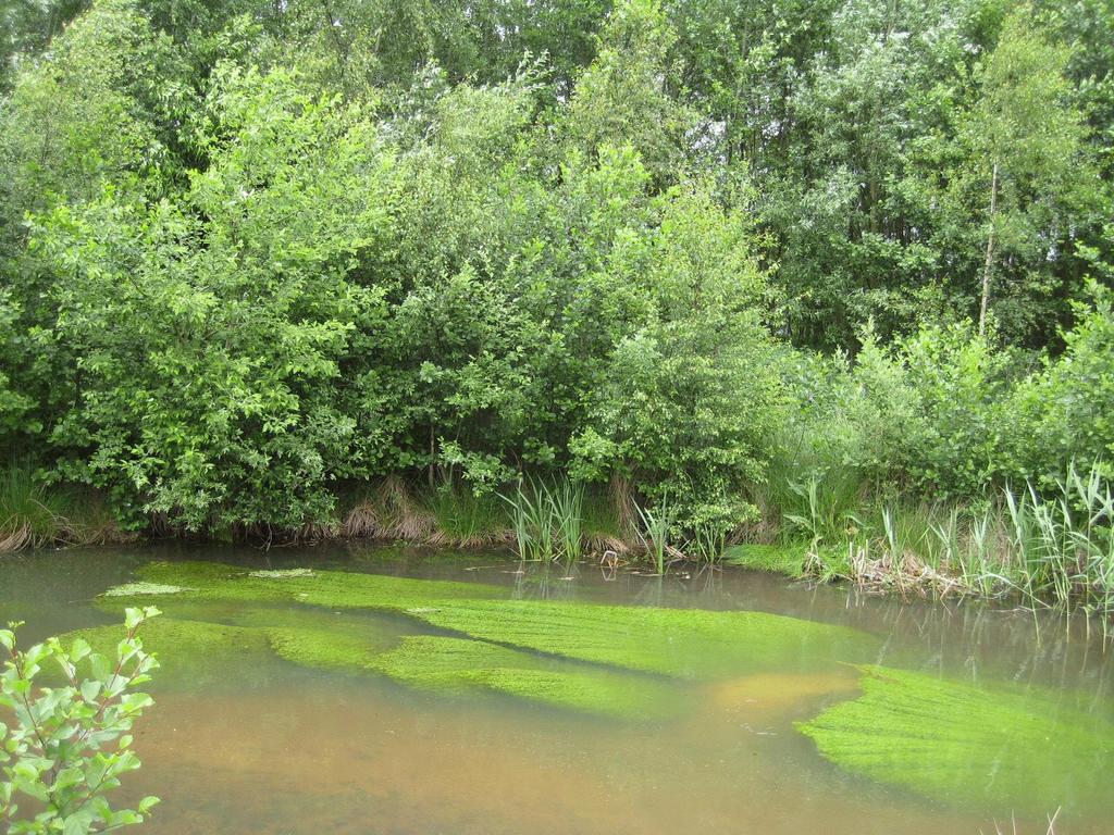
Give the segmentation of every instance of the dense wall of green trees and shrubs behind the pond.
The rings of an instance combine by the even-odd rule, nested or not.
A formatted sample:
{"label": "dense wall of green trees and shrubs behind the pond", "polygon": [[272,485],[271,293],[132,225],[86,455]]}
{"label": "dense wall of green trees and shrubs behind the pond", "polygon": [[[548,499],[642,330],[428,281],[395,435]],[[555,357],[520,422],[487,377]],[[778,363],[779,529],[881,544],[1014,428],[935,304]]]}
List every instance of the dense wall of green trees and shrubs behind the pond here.
{"label": "dense wall of green trees and shrubs behind the pond", "polygon": [[0,448],[125,529],[565,471],[715,551],[1114,451],[1104,0],[3,14]]}

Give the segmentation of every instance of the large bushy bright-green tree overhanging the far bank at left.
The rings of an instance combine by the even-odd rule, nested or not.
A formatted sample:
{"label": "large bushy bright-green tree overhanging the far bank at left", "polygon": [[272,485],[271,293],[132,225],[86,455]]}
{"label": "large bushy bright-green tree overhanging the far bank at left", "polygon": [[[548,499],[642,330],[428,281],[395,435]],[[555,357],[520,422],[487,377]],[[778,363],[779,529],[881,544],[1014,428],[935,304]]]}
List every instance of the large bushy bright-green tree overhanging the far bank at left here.
{"label": "large bushy bright-green tree overhanging the far bank at left", "polygon": [[81,377],[51,443],[131,525],[322,522],[354,441],[339,363],[381,316],[348,275],[389,227],[391,156],[290,73],[225,67],[209,104],[209,165],[173,200],[108,189],[37,220]]}

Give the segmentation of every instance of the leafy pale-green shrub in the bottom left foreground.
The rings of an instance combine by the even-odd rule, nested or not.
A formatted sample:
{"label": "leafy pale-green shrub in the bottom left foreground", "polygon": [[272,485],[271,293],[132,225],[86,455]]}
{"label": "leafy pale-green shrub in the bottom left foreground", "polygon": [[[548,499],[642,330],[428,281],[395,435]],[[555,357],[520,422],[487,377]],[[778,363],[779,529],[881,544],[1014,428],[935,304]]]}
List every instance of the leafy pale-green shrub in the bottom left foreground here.
{"label": "leafy pale-green shrub in the bottom left foreground", "polygon": [[[58,638],[21,650],[14,629],[0,629],[8,659],[0,674],[0,823],[17,833],[89,835],[143,823],[158,803],[144,797],[134,809],[114,809],[107,795],[139,768],[131,730],[154,704],[137,688],[158,668],[138,637],[159,611],[128,609],[124,637],[114,628],[110,654],[81,638],[67,648]],[[49,671],[62,685],[42,687]],[[27,809],[23,809],[23,805]]]}

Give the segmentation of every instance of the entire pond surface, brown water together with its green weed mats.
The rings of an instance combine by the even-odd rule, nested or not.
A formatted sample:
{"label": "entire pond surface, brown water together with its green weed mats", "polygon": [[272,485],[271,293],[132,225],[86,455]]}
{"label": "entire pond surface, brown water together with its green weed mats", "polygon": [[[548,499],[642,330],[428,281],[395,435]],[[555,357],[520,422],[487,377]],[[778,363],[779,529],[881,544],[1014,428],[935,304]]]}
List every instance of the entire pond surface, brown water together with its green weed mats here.
{"label": "entire pond surface, brown water together with its green weed mats", "polygon": [[[26,621],[25,644],[116,623],[124,602],[98,595],[180,560],[322,573],[274,599],[258,590],[284,580],[245,577],[250,595],[157,601],[164,619],[242,631],[234,662],[227,647],[162,652],[144,767],[120,795],[163,798],[149,835],[989,835],[1044,833],[1057,808],[1059,835],[1114,833],[1114,661],[1084,621],[732,569],[663,579],[372,547],[2,557],[0,621]],[[412,582],[388,587],[398,606],[364,606],[317,596],[332,572]],[[480,603],[461,603],[472,590]],[[421,677],[408,640],[480,647],[500,669],[452,655]],[[365,662],[331,661],[338,647]]]}

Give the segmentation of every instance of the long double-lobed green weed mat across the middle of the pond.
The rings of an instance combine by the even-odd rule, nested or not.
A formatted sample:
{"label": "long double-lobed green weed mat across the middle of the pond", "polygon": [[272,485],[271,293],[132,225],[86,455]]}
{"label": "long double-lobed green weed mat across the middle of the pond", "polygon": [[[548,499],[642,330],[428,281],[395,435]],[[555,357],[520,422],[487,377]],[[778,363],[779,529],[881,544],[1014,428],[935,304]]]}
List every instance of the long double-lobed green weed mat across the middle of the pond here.
{"label": "long double-lobed green weed mat across the middle of the pond", "polygon": [[[156,562],[98,605],[111,612],[127,605],[162,608],[166,616],[147,633],[147,646],[179,659],[174,667],[198,656],[209,665],[224,659],[233,640],[297,665],[385,676],[423,690],[494,691],[627,717],[661,717],[666,706],[680,707],[683,681],[863,661],[876,646],[852,629],[764,612],[506,595],[479,583]],[[335,615],[345,611],[371,617]],[[400,636],[375,615],[434,633]],[[107,627],[82,632],[95,645],[110,635]]]}

